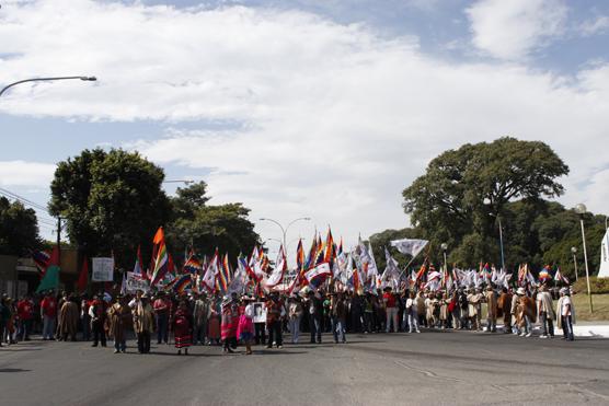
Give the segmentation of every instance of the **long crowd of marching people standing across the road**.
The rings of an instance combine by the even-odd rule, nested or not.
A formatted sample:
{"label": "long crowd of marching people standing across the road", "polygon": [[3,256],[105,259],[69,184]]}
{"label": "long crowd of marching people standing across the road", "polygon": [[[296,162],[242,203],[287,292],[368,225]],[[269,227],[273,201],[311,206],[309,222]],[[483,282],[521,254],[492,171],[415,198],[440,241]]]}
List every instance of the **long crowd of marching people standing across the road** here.
{"label": "long crowd of marching people standing across the road", "polygon": [[[484,305],[483,305],[484,304]],[[92,341],[93,347],[114,343],[114,352],[125,352],[135,337],[139,353],[149,353],[151,341],[173,345],[177,355],[196,345],[219,346],[231,353],[241,343],[246,355],[252,346],[281,348],[284,336],[300,343],[300,332],[310,344],[320,344],[322,333],[334,343],[346,343],[347,334],[421,333],[425,329],[467,329],[539,338],[554,337],[554,322],[563,339],[573,340],[575,309],[568,288],[469,288],[451,291],[404,290],[393,292],[324,292],[304,294],[272,292],[261,297],[168,292],[115,294],[92,298],[61,292],[25,295],[18,302],[0,301],[0,346],[30,340]],[[483,328],[485,327],[485,328]]]}

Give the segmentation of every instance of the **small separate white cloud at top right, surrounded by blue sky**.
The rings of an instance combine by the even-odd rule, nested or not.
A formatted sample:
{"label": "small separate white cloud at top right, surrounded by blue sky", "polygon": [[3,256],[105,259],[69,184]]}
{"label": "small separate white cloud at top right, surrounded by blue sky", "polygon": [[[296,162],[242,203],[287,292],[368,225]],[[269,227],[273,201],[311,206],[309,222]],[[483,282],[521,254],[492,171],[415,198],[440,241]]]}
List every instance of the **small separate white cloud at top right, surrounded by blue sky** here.
{"label": "small separate white cloud at top right, surrounded by blue sky", "polygon": [[466,13],[476,48],[518,60],[563,33],[567,9],[563,0],[479,0]]}

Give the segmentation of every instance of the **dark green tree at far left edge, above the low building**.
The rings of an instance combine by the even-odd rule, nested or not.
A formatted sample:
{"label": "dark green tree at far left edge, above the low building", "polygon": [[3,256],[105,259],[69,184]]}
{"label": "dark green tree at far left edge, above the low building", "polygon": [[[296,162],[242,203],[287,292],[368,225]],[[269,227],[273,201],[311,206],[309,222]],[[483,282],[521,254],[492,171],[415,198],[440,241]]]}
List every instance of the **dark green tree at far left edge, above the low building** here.
{"label": "dark green tree at far left edge, above the low building", "polygon": [[24,256],[41,244],[34,210],[0,197],[0,254]]}

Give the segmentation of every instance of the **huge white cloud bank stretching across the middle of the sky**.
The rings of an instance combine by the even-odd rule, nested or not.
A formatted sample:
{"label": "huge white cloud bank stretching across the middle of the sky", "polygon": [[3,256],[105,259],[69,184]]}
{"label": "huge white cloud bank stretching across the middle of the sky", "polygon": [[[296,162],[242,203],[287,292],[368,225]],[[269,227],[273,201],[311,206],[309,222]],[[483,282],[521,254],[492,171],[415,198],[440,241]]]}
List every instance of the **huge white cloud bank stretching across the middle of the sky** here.
{"label": "huge white cloud bank stretching across the middle of the sky", "polygon": [[[330,223],[353,242],[358,232],[405,227],[402,189],[429,159],[463,142],[504,135],[548,142],[572,169],[564,201],[594,194],[577,185],[609,162],[604,65],[566,80],[515,65],[450,63],[424,55],[416,38],[381,39],[290,11],[54,0],[20,7],[10,20],[0,37],[14,42],[0,53],[23,55],[1,61],[0,77],[101,80],[15,88],[4,112],[169,120],[165,137],[127,147],[161,164],[211,169],[214,201],[243,201],[253,219],[311,216],[292,236]],[[181,130],[184,119],[245,125]],[[258,230],[278,235],[269,223]]]}

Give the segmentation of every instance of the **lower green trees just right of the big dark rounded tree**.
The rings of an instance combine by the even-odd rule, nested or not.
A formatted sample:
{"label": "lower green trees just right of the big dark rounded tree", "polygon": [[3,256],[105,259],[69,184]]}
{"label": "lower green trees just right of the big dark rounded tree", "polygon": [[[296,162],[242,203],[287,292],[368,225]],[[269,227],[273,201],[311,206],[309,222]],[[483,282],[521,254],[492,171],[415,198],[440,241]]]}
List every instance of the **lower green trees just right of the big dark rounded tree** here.
{"label": "lower green trees just right of the big dark rounded tree", "polygon": [[212,255],[217,247],[232,262],[240,253],[250,254],[260,241],[248,219],[250,209],[240,202],[207,205],[206,192],[205,182],[177,188],[177,196],[171,199],[174,218],[168,228],[171,246],[179,252],[194,247],[202,255]]}

